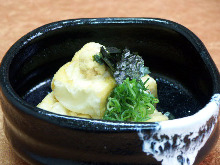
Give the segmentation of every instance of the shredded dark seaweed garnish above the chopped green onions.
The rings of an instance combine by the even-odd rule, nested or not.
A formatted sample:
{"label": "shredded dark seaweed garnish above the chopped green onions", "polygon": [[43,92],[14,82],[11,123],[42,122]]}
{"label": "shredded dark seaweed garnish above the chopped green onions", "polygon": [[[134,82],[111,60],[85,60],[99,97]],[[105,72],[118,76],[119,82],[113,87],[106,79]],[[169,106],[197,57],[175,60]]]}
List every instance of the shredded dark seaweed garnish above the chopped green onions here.
{"label": "shredded dark seaweed garnish above the chopped green onions", "polygon": [[144,60],[137,53],[131,53],[129,49],[121,51],[115,47],[101,47],[100,55],[94,59],[102,64],[105,63],[111,70],[117,84],[128,77],[130,80],[140,80],[141,77],[149,74],[149,68],[144,66]]}

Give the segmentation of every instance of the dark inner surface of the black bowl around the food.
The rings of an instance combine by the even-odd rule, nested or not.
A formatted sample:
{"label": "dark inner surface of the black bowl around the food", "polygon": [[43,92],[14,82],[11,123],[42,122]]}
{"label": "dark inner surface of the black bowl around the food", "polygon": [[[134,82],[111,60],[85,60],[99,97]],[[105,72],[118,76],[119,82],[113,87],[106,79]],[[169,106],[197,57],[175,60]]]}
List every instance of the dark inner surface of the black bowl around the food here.
{"label": "dark inner surface of the black bowl around the food", "polygon": [[176,118],[196,113],[212,96],[212,78],[201,55],[173,29],[156,24],[99,24],[40,30],[43,35],[21,46],[9,66],[12,87],[33,106],[51,91],[55,72],[88,42],[138,52],[157,80],[157,108]]}

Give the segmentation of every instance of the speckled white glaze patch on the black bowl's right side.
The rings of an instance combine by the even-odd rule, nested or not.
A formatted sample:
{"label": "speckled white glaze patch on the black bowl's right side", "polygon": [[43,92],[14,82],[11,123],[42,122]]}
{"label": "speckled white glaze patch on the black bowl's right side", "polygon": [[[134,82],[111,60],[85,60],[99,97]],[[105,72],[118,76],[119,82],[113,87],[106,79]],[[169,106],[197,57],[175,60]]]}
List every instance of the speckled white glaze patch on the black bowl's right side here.
{"label": "speckled white glaze patch on the black bowl's right side", "polygon": [[150,135],[140,131],[143,151],[162,165],[192,165],[217,123],[219,108],[220,94],[215,94],[192,116],[160,122],[159,129]]}

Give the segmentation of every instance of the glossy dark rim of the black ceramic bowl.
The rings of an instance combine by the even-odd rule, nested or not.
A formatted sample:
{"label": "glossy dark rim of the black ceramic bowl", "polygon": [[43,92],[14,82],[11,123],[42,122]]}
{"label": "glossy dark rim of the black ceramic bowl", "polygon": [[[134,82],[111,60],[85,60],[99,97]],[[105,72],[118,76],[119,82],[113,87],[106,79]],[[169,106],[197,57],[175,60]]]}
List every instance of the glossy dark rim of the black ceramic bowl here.
{"label": "glossy dark rim of the black ceramic bowl", "polygon": [[[214,64],[211,56],[209,55],[207,49],[205,48],[202,41],[189,29],[186,27],[166,19],[160,18],[145,18],[145,17],[106,17],[106,18],[80,18],[80,19],[68,19],[61,20],[57,22],[52,22],[45,24],[35,30],[25,34],[18,41],[16,41],[11,48],[6,52],[2,59],[0,66],[0,84],[2,90],[2,97],[5,97],[12,105],[14,105],[20,111],[26,114],[32,115],[38,119],[44,120],[46,122],[55,124],[57,126],[80,129],[80,130],[95,130],[95,131],[131,131],[131,130],[154,130],[158,129],[160,122],[120,122],[120,121],[105,121],[101,119],[85,119],[73,116],[64,116],[60,114],[55,114],[43,109],[34,107],[27,102],[25,102],[12,88],[9,81],[9,66],[14,58],[16,52],[18,52],[22,47],[27,45],[34,39],[37,39],[45,33],[55,31],[57,29],[68,27],[68,26],[81,26],[81,25],[105,25],[105,24],[144,24],[144,25],[158,25],[162,26],[183,35],[199,52],[201,58],[203,59],[205,65],[209,70],[214,80],[214,93],[220,93],[220,76],[216,65]],[[204,60],[205,59],[205,60]],[[4,99],[1,99],[4,100]],[[211,98],[210,98],[211,100]],[[198,110],[198,112],[201,110]],[[197,112],[197,113],[198,113]],[[195,113],[194,115],[196,115]],[[188,118],[190,116],[184,117]],[[184,118],[174,119],[183,120]],[[164,124],[171,123],[172,120],[164,121]]]}

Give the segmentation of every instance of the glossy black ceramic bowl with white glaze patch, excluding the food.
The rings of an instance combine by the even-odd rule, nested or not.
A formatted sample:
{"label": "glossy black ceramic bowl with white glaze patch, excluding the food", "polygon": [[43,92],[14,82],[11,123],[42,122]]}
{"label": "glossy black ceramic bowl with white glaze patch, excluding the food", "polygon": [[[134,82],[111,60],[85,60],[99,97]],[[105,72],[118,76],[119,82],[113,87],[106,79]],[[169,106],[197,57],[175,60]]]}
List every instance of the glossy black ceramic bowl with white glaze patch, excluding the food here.
{"label": "glossy black ceramic bowl with white glaze patch, excluding the food", "polygon": [[[53,74],[88,42],[139,52],[175,120],[132,123],[62,116],[35,106]],[[26,34],[0,68],[5,134],[33,164],[198,164],[219,137],[220,76],[203,43],[162,19],[75,19]]]}

